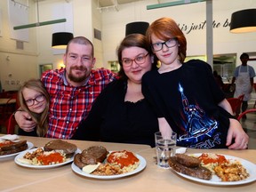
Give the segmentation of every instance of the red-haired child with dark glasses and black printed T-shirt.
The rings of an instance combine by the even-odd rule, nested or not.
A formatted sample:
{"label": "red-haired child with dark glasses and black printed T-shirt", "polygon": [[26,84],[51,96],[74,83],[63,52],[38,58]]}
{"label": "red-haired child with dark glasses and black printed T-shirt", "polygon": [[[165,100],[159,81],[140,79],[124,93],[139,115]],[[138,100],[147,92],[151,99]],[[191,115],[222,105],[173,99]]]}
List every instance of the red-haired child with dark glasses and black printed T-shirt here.
{"label": "red-haired child with dark glasses and black printed T-shirt", "polygon": [[160,131],[177,132],[177,145],[187,148],[247,148],[248,135],[231,116],[211,66],[184,62],[187,41],[176,22],[156,20],[146,36],[161,67],[143,76],[142,92],[157,112]]}

